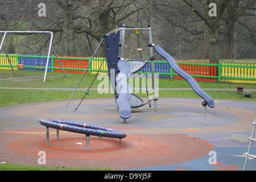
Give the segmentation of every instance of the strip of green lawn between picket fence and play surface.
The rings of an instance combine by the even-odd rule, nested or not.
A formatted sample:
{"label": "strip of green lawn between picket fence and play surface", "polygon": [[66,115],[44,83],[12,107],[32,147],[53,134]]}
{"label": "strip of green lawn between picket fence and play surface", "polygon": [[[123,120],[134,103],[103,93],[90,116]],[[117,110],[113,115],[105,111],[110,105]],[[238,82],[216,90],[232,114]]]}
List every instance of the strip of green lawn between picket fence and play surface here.
{"label": "strip of green lawn between picket fence and play surface", "polygon": [[[44,72],[41,71],[25,71],[16,70],[16,76],[11,70],[1,69],[0,72],[0,87],[2,88],[28,88],[28,89],[0,89],[0,106],[53,101],[53,100],[69,100],[75,90],[82,74],[67,73],[68,78],[65,78],[63,73],[48,72],[46,82],[43,81]],[[92,83],[95,75],[86,74],[82,79],[79,88],[84,90],[77,90],[73,99],[82,98],[84,91],[87,90]],[[140,84],[144,82],[143,78]],[[106,81],[109,78],[106,77]],[[95,90],[102,79],[94,81],[90,94],[86,98],[100,98],[113,97],[112,93],[100,94]],[[110,81],[109,81],[110,87]],[[199,81],[198,84],[202,89],[235,89],[239,84],[225,84]],[[255,84],[243,84],[247,89],[255,89]],[[135,87],[135,86],[134,86]],[[29,89],[29,88],[44,88],[44,89]],[[47,88],[69,88],[69,90],[51,90]],[[152,85],[148,85],[150,92]],[[168,78],[159,78],[159,98],[161,97],[189,97],[200,98],[193,90],[161,90],[161,88],[191,88],[185,80],[174,80]],[[152,89],[151,89],[152,91]],[[238,95],[236,90],[205,90],[213,99],[228,99],[228,100],[249,100],[256,101],[256,92],[253,92],[251,98],[245,98],[243,95]],[[137,94],[139,97],[147,97],[146,93]]]}

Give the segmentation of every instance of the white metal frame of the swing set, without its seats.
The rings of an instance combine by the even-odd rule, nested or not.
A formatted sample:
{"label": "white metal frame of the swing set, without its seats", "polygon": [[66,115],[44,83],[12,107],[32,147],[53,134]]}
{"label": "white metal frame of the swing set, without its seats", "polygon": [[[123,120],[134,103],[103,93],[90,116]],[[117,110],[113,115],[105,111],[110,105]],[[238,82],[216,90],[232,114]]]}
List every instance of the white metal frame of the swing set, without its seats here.
{"label": "white metal frame of the swing set, without its seats", "polygon": [[[49,42],[49,50],[48,50],[48,55],[47,55],[46,72],[44,73],[44,82],[45,82],[46,81],[46,75],[47,75],[47,69],[48,69],[48,63],[49,63],[49,56],[50,56],[50,53],[51,53],[51,48],[53,48],[53,46],[52,46],[53,33],[51,31],[0,31],[0,33],[3,34],[3,39],[2,39],[2,42],[1,42],[1,45],[0,45],[0,51],[3,47],[3,42],[5,40],[6,34],[25,34],[25,35],[26,34],[51,34],[51,39],[50,39],[50,42]],[[3,47],[3,48],[5,48],[5,47]],[[54,48],[53,48],[53,51],[55,52]],[[7,52],[6,52],[6,55],[7,55]],[[55,52],[55,55],[56,55],[56,52]],[[59,61],[59,59],[58,59],[58,61]],[[62,68],[62,66],[61,66],[61,68]],[[65,75],[65,72],[64,72],[63,68],[62,68],[62,70],[63,70],[63,73]],[[14,75],[15,75],[15,73],[14,73]],[[65,77],[67,78],[66,75],[65,75]]]}

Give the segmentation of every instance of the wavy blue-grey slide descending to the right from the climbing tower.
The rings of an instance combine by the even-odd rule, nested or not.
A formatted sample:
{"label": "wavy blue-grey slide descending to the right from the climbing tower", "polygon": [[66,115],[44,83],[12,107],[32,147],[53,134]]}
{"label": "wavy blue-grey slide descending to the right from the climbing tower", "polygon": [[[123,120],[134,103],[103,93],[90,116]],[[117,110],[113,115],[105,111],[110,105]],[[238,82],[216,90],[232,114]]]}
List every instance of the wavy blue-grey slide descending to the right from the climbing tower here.
{"label": "wavy blue-grey slide descending to the right from the climbing tower", "polygon": [[176,61],[174,60],[174,58],[169,53],[164,51],[164,49],[160,46],[156,46],[155,50],[156,50],[156,52],[158,52],[158,54],[160,56],[164,57],[164,59],[167,60],[167,62],[172,67],[172,69],[174,69],[174,71],[178,75],[180,75],[181,77],[183,77],[185,80],[188,81],[189,85],[191,85],[191,87],[195,91],[195,93],[197,95],[199,95],[201,98],[203,98],[209,107],[212,107],[212,108],[215,107],[212,97],[210,97],[207,93],[205,93],[200,88],[199,84],[197,84],[196,80],[192,76],[190,76],[188,73],[183,71],[183,69],[181,69],[179,67],[179,65],[177,65]]}

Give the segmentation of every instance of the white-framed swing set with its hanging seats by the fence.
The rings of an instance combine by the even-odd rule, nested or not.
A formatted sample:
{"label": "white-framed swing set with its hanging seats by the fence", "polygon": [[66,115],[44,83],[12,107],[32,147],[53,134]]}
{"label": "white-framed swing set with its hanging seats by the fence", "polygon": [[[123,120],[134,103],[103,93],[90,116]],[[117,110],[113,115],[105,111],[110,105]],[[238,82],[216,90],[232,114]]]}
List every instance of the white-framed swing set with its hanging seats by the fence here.
{"label": "white-framed swing set with its hanging seats by the fence", "polygon": [[[1,42],[1,45],[0,45],[0,51],[3,47],[4,51],[5,51],[5,54],[6,54],[6,57],[9,61],[9,64],[11,66],[11,69],[13,70],[13,73],[14,73],[14,76],[16,76],[16,73],[14,72],[14,69],[13,69],[13,65],[11,64],[11,61],[9,59],[9,56],[8,56],[8,53],[6,51],[6,48],[4,46],[4,41],[5,41],[5,38],[6,38],[6,35],[7,34],[15,34],[15,35],[33,35],[33,43],[34,43],[34,52],[35,52],[35,39],[34,39],[34,34],[50,34],[51,38],[50,38],[50,41],[49,41],[49,49],[48,49],[48,55],[47,55],[47,62],[46,62],[46,71],[44,73],[44,82],[46,81],[46,76],[47,76],[47,69],[48,69],[48,63],[49,63],[49,56],[50,56],[50,53],[51,53],[51,48],[57,58],[57,60],[59,61],[59,64],[60,64],[60,67],[64,73],[64,76],[67,78],[67,75],[65,74],[65,71],[60,63],[60,60],[59,58],[57,57],[57,54],[56,54],[56,51],[55,49],[53,48],[53,45],[52,45],[52,39],[53,39],[53,33],[51,31],[0,31],[0,40],[2,39],[2,42]],[[3,38],[2,38],[3,36]],[[43,44],[44,44],[44,39],[43,39]],[[44,46],[44,45],[43,45]],[[23,69],[24,68],[24,64],[23,64],[23,61],[22,63],[20,64],[17,64],[17,67],[18,69]],[[36,60],[35,62],[35,67],[36,69],[43,69],[43,60],[40,61],[40,63],[38,63],[38,61]]]}

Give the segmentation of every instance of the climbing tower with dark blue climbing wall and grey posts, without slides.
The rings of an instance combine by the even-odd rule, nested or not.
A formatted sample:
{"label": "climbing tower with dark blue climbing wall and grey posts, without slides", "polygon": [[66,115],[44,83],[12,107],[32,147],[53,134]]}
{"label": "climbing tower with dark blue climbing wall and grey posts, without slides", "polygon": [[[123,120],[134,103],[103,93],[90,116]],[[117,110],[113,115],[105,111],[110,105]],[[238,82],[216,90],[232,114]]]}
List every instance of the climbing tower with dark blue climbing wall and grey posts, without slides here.
{"label": "climbing tower with dark blue climbing wall and grey posts, without slides", "polygon": [[[156,88],[155,88],[155,65],[154,65],[154,44],[152,43],[152,30],[151,27],[148,26],[147,28],[126,28],[125,24],[123,24],[121,26],[121,28],[118,28],[116,30],[113,30],[111,32],[109,32],[108,34],[102,36],[101,42],[98,44],[98,47],[96,48],[96,51],[94,52],[94,55],[92,56],[92,59],[90,60],[87,68],[85,69],[82,77],[80,78],[79,83],[77,84],[75,90],[72,93],[71,98],[69,99],[67,106],[69,105],[69,102],[72,100],[73,95],[75,94],[77,88],[79,87],[82,78],[84,77],[87,69],[89,68],[89,65],[92,63],[92,60],[94,59],[94,56],[96,55],[96,52],[98,51],[98,48],[100,47],[101,43],[103,42],[103,40],[105,39],[106,41],[106,61],[107,61],[107,65],[108,65],[108,72],[109,72],[109,78],[110,77],[114,77],[116,78],[115,81],[113,82],[113,80],[110,78],[110,82],[112,85],[112,88],[114,90],[114,96],[115,96],[115,101],[117,103],[117,107],[119,109],[119,113],[120,113],[120,117],[124,119],[124,122],[126,122],[126,119],[129,118],[130,116],[128,115],[127,117],[122,117],[121,115],[121,108],[119,108],[118,105],[118,100],[121,100],[121,93],[118,93],[115,88],[119,88],[117,82],[119,81],[117,75],[120,73],[121,69],[118,67],[118,64],[121,63],[121,61],[125,60],[125,42],[126,42],[126,38],[125,38],[125,34],[126,31],[135,31],[135,34],[137,34],[137,40],[138,40],[138,48],[137,51],[139,52],[139,55],[141,57],[141,59],[131,59],[131,60],[126,60],[125,62],[127,63],[127,68],[125,67],[124,69],[129,69],[129,73],[137,73],[138,71],[143,71],[143,75],[144,75],[144,67],[147,65],[147,61],[142,60],[142,48],[140,47],[140,43],[139,43],[139,31],[148,31],[148,44],[146,46],[149,47],[149,52],[150,52],[150,56],[149,56],[149,60],[151,61],[151,72],[152,72],[152,89],[154,92],[154,97],[152,97],[152,99],[150,100],[149,96],[148,96],[148,90],[147,90],[147,84],[146,84],[146,77],[144,75],[144,80],[145,80],[145,85],[146,85],[146,93],[147,93],[147,97],[148,97],[148,102],[144,102],[141,98],[139,98],[138,96],[136,96],[135,94],[131,93],[128,97],[129,99],[129,109],[131,107],[141,107],[144,106],[146,104],[149,104],[149,106],[151,107],[150,102],[154,101],[154,108],[155,111],[158,110],[157,107],[157,100],[158,100],[158,96],[156,94]],[[98,72],[96,73],[96,76],[94,77],[94,80],[96,79],[102,64],[104,63],[104,61],[102,61],[100,68],[98,68]],[[126,64],[125,63],[125,64]],[[122,68],[123,69],[123,68]],[[120,73],[121,74],[121,73]],[[76,109],[74,111],[76,111],[78,109],[78,107],[80,106],[81,102],[84,100],[84,98],[86,97],[86,95],[89,94],[89,90],[94,82],[94,80],[92,81],[92,83],[90,84],[88,90],[85,91],[85,95],[82,98],[82,100],[80,101],[79,105],[76,107]],[[122,80],[122,78],[121,78]],[[128,85],[128,84],[127,84]],[[128,85],[129,86],[129,85]],[[122,88],[119,88],[122,89]],[[119,102],[119,103],[122,103]],[[129,110],[127,109],[127,110]]]}

